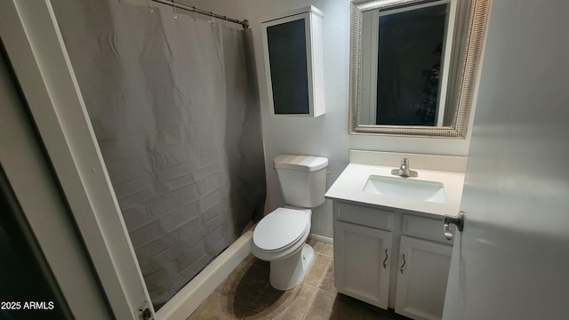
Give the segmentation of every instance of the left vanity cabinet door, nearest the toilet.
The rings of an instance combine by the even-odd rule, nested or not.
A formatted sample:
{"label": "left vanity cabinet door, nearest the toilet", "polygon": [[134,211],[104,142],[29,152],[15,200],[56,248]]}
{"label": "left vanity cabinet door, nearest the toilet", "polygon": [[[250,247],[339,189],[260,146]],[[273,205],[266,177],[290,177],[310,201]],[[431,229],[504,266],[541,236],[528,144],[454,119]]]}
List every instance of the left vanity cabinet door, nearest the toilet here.
{"label": "left vanity cabinet door, nearest the toilet", "polygon": [[334,221],[334,281],[338,292],[388,308],[392,233]]}

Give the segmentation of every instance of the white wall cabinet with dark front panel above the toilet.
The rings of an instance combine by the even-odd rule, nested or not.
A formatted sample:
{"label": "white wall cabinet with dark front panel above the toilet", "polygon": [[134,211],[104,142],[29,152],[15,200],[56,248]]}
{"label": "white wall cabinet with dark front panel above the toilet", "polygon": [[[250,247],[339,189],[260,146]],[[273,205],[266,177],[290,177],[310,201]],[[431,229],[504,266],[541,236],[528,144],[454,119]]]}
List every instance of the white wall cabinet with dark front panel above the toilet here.
{"label": "white wall cabinet with dark front panel above the toilet", "polygon": [[322,21],[313,6],[261,22],[271,116],[325,113]]}

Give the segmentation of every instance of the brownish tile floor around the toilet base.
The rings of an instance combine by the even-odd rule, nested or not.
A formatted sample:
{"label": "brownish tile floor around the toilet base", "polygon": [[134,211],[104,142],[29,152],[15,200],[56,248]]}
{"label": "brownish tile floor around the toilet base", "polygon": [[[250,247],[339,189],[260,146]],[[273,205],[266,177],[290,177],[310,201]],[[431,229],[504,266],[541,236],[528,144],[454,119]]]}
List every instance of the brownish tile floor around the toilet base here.
{"label": "brownish tile floor around the toilet base", "polygon": [[273,289],[268,283],[268,262],[249,255],[188,320],[408,319],[336,292],[332,244],[313,240],[309,244],[315,260],[304,281],[293,290]]}

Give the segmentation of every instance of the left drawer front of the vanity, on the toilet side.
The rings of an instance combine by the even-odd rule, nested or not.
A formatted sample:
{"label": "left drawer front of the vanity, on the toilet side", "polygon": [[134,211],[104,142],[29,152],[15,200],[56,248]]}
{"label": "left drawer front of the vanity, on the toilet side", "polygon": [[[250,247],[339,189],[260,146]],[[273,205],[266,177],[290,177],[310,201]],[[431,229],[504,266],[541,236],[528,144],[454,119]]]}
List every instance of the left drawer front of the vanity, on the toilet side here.
{"label": "left drawer front of the vanity, on the toilet side", "polygon": [[389,210],[352,204],[339,203],[336,207],[336,219],[338,220],[385,230],[393,230],[394,215],[395,213]]}

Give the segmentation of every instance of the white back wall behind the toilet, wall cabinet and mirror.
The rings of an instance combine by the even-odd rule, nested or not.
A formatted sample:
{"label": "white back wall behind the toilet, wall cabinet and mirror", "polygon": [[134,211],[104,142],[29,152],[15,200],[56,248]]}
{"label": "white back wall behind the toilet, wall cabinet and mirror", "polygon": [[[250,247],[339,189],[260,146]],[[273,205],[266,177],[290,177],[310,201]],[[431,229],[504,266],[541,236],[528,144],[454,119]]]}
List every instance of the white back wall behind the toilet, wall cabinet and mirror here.
{"label": "white back wall behind the toilet, wall cabinet and mirror", "polygon": [[[349,0],[180,0],[180,3],[250,21],[260,79],[260,105],[270,197],[269,209],[283,205],[272,160],[283,153],[326,156],[328,188],[349,162],[349,149],[467,156],[467,140],[416,139],[348,134],[349,105]],[[314,5],[325,12],[324,67],[325,116],[317,118],[274,118],[268,110],[267,84],[260,21],[284,12]],[[333,236],[332,205],[329,200],[313,210],[312,233]]]}

